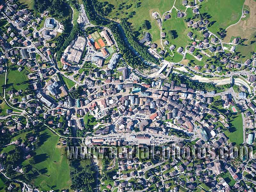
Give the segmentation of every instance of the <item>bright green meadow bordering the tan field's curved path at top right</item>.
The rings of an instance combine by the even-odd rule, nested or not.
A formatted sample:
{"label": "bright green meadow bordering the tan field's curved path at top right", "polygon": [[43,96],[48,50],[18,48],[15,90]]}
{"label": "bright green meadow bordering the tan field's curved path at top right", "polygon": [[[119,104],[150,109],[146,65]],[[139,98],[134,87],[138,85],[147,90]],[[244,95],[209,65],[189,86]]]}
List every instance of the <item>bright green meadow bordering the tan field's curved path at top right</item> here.
{"label": "bright green meadow bordering the tan field's curved path at top right", "polygon": [[226,29],[240,19],[243,4],[244,0],[236,0],[236,3],[233,0],[204,1],[200,4],[199,11],[211,17],[209,21],[212,25],[208,29],[216,34],[219,28]]}

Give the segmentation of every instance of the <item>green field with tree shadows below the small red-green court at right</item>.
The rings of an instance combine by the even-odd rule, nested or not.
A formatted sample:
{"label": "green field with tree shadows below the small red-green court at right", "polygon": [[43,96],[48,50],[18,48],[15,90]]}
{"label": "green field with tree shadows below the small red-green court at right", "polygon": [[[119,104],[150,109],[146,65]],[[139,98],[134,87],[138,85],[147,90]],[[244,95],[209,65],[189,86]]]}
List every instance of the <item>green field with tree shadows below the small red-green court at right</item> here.
{"label": "green field with tree shadows below the small red-green court at right", "polygon": [[231,142],[235,142],[237,145],[242,144],[244,141],[242,114],[236,114],[230,119],[231,126],[229,131],[225,131],[225,134]]}

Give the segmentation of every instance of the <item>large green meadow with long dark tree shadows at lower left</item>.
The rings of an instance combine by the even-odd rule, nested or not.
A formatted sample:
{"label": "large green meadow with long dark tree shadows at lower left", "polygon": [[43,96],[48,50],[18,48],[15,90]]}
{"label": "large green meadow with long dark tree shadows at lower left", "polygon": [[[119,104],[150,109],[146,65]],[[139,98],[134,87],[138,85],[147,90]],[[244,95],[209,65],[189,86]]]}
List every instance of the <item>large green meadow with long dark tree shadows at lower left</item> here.
{"label": "large green meadow with long dark tree shadows at lower left", "polygon": [[[61,190],[71,185],[67,156],[65,149],[58,146],[59,139],[59,136],[48,129],[40,133],[42,145],[34,151],[36,164],[33,165],[33,169],[44,173],[40,173],[31,181],[40,190]],[[22,164],[29,164],[29,160],[25,160]]]}

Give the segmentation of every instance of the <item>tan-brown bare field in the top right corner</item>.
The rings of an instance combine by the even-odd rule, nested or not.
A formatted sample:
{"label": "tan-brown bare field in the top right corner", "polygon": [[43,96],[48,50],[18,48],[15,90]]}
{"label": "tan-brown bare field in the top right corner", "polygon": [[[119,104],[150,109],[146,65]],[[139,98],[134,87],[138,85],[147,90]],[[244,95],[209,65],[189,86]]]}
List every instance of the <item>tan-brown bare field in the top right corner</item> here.
{"label": "tan-brown bare field in the top right corner", "polygon": [[249,41],[254,38],[256,30],[256,2],[254,0],[246,0],[244,4],[250,8],[249,18],[247,20],[240,20],[236,25],[228,28],[224,42],[229,43],[232,36],[241,36],[241,38],[246,38]]}

